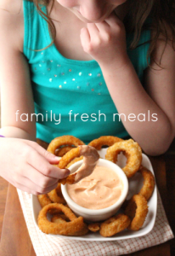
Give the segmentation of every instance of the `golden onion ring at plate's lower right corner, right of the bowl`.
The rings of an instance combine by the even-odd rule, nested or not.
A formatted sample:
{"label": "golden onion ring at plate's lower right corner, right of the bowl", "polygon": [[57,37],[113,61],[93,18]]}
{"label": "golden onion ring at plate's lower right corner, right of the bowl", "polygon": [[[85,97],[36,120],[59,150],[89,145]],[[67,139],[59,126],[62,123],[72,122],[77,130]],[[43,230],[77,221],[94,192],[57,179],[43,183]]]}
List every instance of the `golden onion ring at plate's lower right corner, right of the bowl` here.
{"label": "golden onion ring at plate's lower right corner, right of the bowl", "polygon": [[143,195],[133,195],[128,202],[125,214],[131,218],[132,222],[127,227],[128,230],[139,230],[148,213],[148,205]]}

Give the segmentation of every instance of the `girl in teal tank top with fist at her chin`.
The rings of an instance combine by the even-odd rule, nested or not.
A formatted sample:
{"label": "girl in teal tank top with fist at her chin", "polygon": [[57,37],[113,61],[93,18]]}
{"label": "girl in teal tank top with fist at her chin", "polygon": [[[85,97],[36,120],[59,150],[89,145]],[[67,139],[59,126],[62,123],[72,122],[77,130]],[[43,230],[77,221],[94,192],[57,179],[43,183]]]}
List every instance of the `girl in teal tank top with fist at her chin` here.
{"label": "girl in teal tank top with fist at her chin", "polygon": [[1,2],[2,177],[38,195],[69,174],[35,143],[34,117],[47,143],[129,134],[146,154],[167,150],[175,131],[174,1]]}

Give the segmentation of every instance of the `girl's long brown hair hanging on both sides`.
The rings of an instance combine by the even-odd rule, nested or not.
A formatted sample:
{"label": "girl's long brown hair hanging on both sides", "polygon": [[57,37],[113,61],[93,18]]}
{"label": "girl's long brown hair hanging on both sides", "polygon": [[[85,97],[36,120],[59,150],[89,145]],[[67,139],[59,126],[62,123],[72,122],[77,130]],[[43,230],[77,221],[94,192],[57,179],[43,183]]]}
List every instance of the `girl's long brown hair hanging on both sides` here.
{"label": "girl's long brown hair hanging on both sides", "polygon": [[[52,35],[54,43],[54,39],[56,37],[56,29],[53,21],[49,17],[53,7],[55,0],[28,0],[33,2],[40,15],[47,20],[48,27],[50,30],[50,34]],[[52,6],[50,9],[50,13],[48,15],[42,12],[41,6],[48,6],[48,3],[52,1]],[[129,11],[127,16],[123,20],[126,31],[133,32],[133,42],[130,45],[130,49],[135,49],[138,47],[138,41],[141,35],[141,32],[145,29],[150,29],[152,32],[152,39],[150,42],[150,49],[147,55],[147,61],[149,56],[152,57],[152,54],[155,50],[155,44],[160,36],[163,36],[163,40],[165,41],[165,47],[167,46],[167,42],[172,42],[172,48],[175,50],[175,1],[174,0],[127,0],[129,3]],[[150,17],[151,22],[145,22],[147,18]],[[51,45],[50,44],[50,45]],[[48,45],[48,46],[50,46]],[[162,51],[162,55],[164,53]],[[156,61],[155,61],[156,62]],[[149,63],[149,62],[148,62]],[[157,63],[157,62],[156,62]],[[157,63],[159,67],[161,67],[161,59],[159,63]]]}

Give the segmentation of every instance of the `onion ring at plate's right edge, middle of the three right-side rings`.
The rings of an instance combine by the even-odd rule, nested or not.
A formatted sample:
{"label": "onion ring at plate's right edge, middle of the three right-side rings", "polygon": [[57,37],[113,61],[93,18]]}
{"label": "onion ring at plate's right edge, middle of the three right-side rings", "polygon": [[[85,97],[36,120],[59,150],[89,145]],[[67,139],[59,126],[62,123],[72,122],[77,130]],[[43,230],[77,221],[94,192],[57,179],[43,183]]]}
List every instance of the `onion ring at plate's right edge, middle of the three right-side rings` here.
{"label": "onion ring at plate's right edge, middle of the three right-side rings", "polygon": [[144,198],[146,199],[146,201],[148,201],[155,189],[155,177],[152,172],[150,172],[150,170],[148,170],[144,166],[140,167],[139,172],[144,177],[144,185],[142,189],[140,189],[138,195],[144,195]]}

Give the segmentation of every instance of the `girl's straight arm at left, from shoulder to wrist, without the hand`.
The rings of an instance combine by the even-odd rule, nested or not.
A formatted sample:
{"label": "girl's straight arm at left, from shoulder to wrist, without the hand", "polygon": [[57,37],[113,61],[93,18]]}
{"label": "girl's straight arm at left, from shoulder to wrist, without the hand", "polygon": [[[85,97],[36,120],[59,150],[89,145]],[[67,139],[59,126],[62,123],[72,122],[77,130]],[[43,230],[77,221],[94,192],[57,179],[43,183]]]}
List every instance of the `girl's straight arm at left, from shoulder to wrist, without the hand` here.
{"label": "girl's straight arm at left, from shoulder to wrist, without the hand", "polygon": [[[17,4],[18,3],[18,4]],[[23,16],[17,1],[1,4],[0,9],[0,84],[2,130],[5,137],[20,137],[35,141],[36,124],[23,122],[15,113],[34,113],[29,67],[22,53]],[[16,121],[18,117],[18,121]],[[23,116],[24,118],[24,116]]]}

